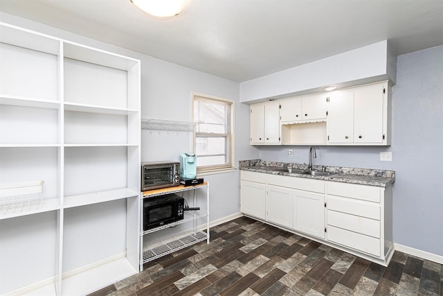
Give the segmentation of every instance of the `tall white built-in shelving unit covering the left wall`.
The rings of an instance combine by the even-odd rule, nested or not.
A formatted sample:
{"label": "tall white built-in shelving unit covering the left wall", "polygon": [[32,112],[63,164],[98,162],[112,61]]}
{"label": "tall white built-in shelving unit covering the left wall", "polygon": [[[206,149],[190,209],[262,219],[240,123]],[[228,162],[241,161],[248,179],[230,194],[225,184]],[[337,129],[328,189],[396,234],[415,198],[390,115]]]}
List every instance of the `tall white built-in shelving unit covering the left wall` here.
{"label": "tall white built-in shelving unit covering the left wall", "polygon": [[[140,61],[0,23],[0,294],[84,295],[138,272]],[[0,204],[1,207],[1,204]]]}

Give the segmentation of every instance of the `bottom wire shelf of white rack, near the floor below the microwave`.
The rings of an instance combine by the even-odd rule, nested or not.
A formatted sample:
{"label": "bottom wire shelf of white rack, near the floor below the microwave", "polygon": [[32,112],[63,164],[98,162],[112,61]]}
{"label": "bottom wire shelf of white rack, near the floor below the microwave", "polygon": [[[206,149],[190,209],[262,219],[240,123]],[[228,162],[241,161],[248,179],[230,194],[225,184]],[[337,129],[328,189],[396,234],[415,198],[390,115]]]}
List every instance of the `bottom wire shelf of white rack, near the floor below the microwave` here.
{"label": "bottom wire shelf of white rack, near the floor below the microwave", "polygon": [[145,244],[143,245],[143,263],[171,254],[172,252],[194,245],[200,241],[205,241],[207,238],[208,234],[206,234],[206,232],[196,232],[195,234],[190,234],[175,241],[157,245],[156,247],[150,247],[151,245],[155,245],[155,243]]}

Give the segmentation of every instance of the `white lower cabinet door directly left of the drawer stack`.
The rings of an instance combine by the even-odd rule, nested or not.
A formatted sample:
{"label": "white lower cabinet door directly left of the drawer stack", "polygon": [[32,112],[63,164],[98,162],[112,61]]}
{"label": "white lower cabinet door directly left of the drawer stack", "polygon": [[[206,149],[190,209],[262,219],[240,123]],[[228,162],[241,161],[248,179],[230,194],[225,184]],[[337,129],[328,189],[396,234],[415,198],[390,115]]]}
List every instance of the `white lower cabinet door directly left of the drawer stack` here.
{"label": "white lower cabinet door directly left of the drawer stack", "polygon": [[293,228],[325,238],[325,195],[296,191],[294,200]]}

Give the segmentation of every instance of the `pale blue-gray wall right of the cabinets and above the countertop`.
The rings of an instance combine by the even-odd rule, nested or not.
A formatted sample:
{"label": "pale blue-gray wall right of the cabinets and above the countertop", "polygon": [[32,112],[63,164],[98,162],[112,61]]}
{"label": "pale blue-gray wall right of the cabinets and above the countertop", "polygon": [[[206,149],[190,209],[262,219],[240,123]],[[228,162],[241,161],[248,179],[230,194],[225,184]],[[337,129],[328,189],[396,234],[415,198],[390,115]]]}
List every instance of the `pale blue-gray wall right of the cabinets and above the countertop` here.
{"label": "pale blue-gray wall right of the cabinets and above the countertop", "polygon": [[[316,148],[314,164],[395,170],[395,243],[443,256],[443,46],[398,57],[390,147]],[[381,151],[392,162],[380,162]],[[309,146],[266,146],[260,157],[307,163]]]}

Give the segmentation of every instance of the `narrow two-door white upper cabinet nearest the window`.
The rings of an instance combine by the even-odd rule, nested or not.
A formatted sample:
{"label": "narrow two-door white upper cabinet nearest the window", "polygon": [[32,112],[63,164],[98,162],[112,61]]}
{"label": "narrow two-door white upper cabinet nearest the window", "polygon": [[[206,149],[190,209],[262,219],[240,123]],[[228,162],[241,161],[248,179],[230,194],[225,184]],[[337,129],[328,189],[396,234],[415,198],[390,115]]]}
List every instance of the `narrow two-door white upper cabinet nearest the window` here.
{"label": "narrow two-door white upper cabinet nearest the window", "polygon": [[251,105],[251,145],[280,143],[278,102]]}

